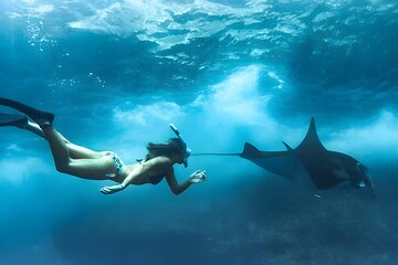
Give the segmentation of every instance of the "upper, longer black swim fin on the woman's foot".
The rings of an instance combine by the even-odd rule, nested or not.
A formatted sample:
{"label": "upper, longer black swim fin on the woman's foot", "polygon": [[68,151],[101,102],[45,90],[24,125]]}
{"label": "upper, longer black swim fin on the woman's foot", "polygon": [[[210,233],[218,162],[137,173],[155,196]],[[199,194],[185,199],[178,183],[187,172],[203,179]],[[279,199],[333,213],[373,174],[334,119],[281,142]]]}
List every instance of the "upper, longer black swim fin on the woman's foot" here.
{"label": "upper, longer black swim fin on the woman's foot", "polygon": [[23,113],[33,119],[39,126],[50,126],[54,120],[54,115],[52,113],[42,112],[12,99],[0,97],[0,105],[11,107]]}

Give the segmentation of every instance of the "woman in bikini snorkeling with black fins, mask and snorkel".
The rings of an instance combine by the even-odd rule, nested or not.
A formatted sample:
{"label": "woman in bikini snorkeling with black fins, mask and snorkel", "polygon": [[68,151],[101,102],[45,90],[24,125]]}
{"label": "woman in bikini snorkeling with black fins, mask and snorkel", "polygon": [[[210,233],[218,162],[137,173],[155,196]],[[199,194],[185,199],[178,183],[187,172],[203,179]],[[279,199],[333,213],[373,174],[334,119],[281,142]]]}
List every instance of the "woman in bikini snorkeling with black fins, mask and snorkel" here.
{"label": "woman in bikini snorkeling with black fins, mask and snorkel", "polygon": [[187,190],[192,183],[206,180],[206,171],[195,171],[184,183],[175,177],[175,163],[188,165],[190,150],[174,125],[171,129],[177,138],[165,144],[147,145],[148,153],[136,163],[125,165],[113,151],[93,151],[72,144],[53,127],[54,115],[42,112],[15,100],[0,97],[0,105],[14,108],[22,114],[0,114],[0,126],[14,126],[30,130],[48,140],[55,168],[62,173],[90,180],[113,180],[118,184],[107,186],[100,191],[111,194],[126,189],[129,184],[157,184],[166,179],[174,194]]}

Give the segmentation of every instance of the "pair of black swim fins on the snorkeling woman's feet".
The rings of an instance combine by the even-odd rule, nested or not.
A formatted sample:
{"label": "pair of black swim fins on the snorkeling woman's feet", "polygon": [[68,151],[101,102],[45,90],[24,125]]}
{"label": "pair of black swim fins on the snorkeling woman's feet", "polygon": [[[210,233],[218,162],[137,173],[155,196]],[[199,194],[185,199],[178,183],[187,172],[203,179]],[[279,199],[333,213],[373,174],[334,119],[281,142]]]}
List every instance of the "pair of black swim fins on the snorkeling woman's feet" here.
{"label": "pair of black swim fins on the snorkeling woman's feet", "polygon": [[[0,97],[0,105],[14,108],[20,113],[33,119],[39,126],[51,126],[54,120],[54,115],[32,108],[22,103]],[[28,124],[28,117],[21,114],[0,114],[0,126],[19,126],[23,127]]]}

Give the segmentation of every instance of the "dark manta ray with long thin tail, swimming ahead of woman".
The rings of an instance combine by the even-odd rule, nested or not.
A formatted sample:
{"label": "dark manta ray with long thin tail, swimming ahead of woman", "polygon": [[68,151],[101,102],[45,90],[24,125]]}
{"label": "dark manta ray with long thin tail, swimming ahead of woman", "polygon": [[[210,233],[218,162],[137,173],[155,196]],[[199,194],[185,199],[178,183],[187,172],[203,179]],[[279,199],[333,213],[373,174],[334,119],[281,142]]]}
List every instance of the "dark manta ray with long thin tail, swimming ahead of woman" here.
{"label": "dark manta ray with long thin tail, swimming ahead of woman", "polygon": [[354,188],[368,187],[373,191],[371,176],[367,167],[346,153],[327,150],[320,140],[314,118],[311,118],[307,134],[296,148],[282,142],[286,148],[284,151],[261,151],[244,142],[241,153],[200,155],[239,156],[266,171],[293,180],[304,170],[320,190],[349,181]]}

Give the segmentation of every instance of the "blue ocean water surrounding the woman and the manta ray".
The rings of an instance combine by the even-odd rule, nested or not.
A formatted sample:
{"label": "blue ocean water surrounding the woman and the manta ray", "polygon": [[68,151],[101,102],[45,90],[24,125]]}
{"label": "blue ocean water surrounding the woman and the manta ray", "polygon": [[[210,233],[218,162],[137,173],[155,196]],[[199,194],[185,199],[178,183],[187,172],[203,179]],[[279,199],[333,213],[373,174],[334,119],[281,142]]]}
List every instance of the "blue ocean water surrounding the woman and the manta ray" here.
{"label": "blue ocean water surrounding the woman and the manta ray", "polygon": [[178,197],[103,195],[112,182],[59,173],[43,139],[1,127],[0,264],[398,264],[397,43],[394,0],[1,0],[0,96],[71,141],[129,163],[174,123],[193,152],[283,150],[315,117],[376,199],[238,157],[176,166],[208,172]]}

